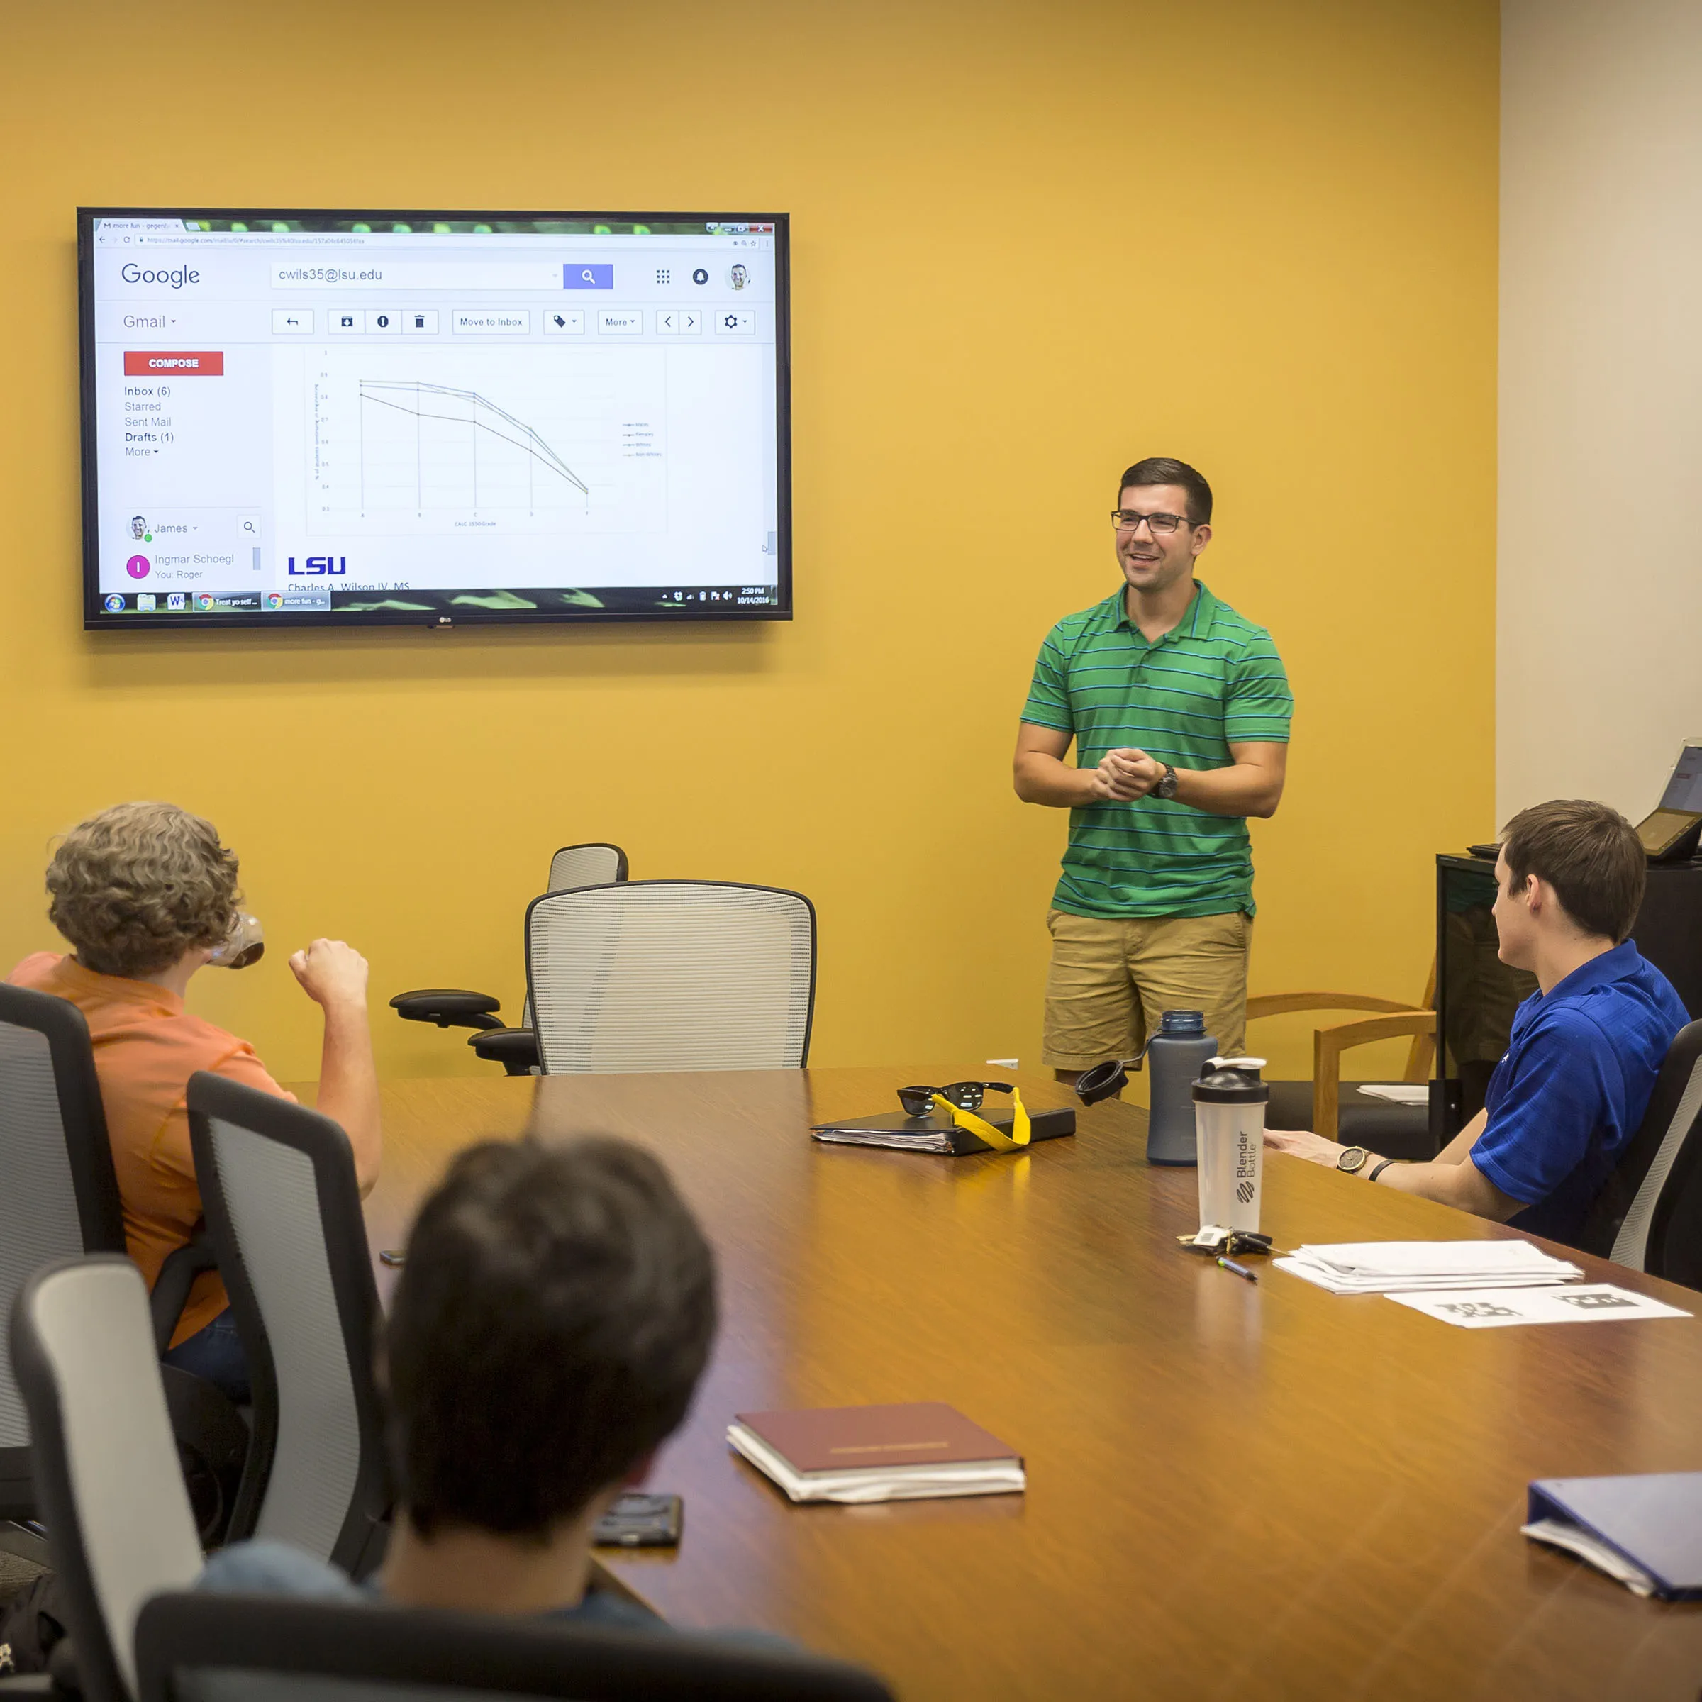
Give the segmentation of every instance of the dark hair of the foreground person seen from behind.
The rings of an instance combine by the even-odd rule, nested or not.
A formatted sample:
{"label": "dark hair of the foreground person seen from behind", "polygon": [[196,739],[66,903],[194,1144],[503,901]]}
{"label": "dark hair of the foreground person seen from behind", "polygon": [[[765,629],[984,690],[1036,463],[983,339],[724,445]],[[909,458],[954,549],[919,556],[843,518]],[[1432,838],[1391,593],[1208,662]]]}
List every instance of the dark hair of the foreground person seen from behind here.
{"label": "dark hair of the foreground person seen from behind", "polygon": [[386,1331],[414,1528],[546,1540],[679,1426],[713,1338],[715,1254],[647,1151],[470,1147],[420,1208]]}

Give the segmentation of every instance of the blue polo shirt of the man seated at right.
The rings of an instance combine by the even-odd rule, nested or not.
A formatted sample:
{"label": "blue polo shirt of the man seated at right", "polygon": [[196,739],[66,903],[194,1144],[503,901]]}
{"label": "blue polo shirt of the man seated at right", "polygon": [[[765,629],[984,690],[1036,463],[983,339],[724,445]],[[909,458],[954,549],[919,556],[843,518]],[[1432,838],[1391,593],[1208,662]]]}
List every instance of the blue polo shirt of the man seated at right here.
{"label": "blue polo shirt of the man seated at right", "polygon": [[1513,1013],[1472,1147],[1477,1169],[1523,1202],[1513,1229],[1576,1244],[1688,1021],[1673,984],[1629,940]]}

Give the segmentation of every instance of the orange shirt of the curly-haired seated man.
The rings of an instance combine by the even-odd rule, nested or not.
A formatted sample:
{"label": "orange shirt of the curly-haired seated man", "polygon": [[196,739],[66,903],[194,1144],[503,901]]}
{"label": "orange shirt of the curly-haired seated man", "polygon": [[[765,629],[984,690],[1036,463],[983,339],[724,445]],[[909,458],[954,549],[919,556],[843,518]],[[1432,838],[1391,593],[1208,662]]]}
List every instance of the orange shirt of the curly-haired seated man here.
{"label": "orange shirt of the curly-haired seated man", "polygon": [[[89,1023],[124,1205],[124,1244],[151,1290],[165,1256],[201,1227],[186,1105],[189,1077],[209,1069],[281,1099],[293,1101],[294,1094],[267,1076],[247,1040],[191,1016],[175,992],[153,982],[97,975],[53,951],[24,958],[7,979],[14,987],[68,999]],[[218,1271],[204,1271],[189,1290],[170,1345],[204,1329],[226,1304]]]}

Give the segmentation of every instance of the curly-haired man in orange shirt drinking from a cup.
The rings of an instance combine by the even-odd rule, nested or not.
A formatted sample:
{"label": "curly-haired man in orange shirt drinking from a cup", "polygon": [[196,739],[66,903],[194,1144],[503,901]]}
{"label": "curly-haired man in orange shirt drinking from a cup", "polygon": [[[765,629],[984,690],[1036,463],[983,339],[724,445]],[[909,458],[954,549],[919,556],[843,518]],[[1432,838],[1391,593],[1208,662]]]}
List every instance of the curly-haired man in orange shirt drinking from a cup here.
{"label": "curly-haired man in orange shirt drinking from a cup", "polygon": [[[199,815],[172,803],[121,803],[65,836],[48,892],[48,919],[75,955],[37,951],[9,979],[68,999],[89,1023],[124,1241],[151,1288],[167,1256],[203,1222],[189,1077],[206,1069],[291,1098],[247,1040],[184,1009],[191,975],[237,928],[237,856]],[[366,1193],[380,1156],[366,958],[340,940],[315,940],[289,967],[325,1011],[318,1110],[347,1132]],[[165,1363],[248,1399],[248,1367],[216,1271],[196,1280]]]}

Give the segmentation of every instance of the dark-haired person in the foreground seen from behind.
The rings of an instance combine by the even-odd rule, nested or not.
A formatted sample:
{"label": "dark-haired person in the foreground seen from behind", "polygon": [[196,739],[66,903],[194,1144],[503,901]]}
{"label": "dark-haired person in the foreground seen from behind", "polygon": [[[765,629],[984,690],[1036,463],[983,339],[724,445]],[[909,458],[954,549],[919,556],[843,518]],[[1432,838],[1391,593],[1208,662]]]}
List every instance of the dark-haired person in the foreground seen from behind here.
{"label": "dark-haired person in the foreground seen from behind", "polygon": [[715,1258],[647,1151],[468,1149],[420,1208],[385,1333],[397,1516],[376,1583],[245,1542],[201,1588],[660,1627],[587,1595],[591,1539],[684,1419],[715,1321]]}

